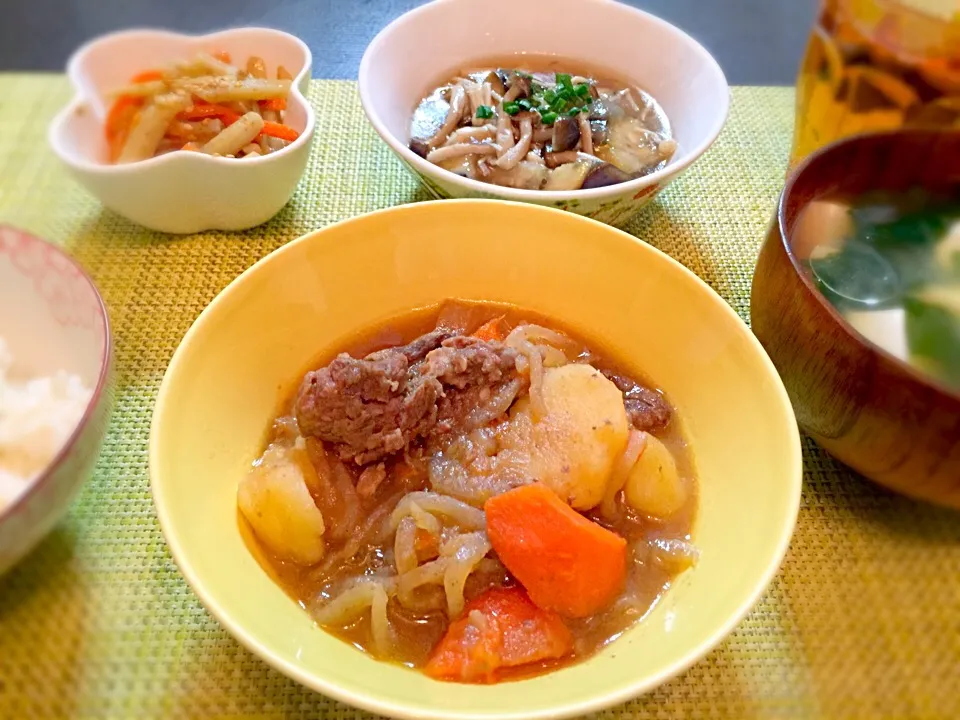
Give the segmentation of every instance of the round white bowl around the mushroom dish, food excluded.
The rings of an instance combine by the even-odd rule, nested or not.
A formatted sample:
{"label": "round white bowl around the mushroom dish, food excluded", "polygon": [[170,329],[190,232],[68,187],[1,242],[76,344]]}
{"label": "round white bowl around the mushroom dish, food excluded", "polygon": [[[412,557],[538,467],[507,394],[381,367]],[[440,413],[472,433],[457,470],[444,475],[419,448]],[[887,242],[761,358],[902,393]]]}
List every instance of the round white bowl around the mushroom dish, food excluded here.
{"label": "round white bowl around the mushroom dish, food excluded", "polygon": [[[570,192],[517,190],[463,178],[407,146],[420,99],[454,73],[520,54],[600,69],[650,92],[670,119],[678,150],[658,172]],[[693,38],[613,0],[434,0],[388,25],[360,63],[360,99],[373,127],[437,198],[501,198],[570,210],[623,225],[713,144],[727,119],[723,71]]]}

